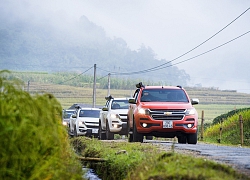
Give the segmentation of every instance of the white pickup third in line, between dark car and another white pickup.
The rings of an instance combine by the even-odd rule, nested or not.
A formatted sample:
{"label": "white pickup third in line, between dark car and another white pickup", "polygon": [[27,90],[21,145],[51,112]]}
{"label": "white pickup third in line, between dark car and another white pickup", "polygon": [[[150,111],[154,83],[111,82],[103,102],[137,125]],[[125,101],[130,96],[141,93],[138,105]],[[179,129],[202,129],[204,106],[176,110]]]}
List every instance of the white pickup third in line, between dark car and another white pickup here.
{"label": "white pickup third in line, between dark car and another white pickup", "polygon": [[98,137],[99,108],[76,108],[69,121],[69,135]]}

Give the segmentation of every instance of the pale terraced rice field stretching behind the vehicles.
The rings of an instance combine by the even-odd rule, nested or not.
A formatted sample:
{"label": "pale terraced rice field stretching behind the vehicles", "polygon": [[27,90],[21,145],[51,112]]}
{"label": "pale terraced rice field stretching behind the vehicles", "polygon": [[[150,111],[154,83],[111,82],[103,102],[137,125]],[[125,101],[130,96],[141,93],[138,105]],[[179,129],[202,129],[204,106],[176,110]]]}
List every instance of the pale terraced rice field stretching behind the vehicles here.
{"label": "pale terraced rice field stretching behind the vehicles", "polygon": [[[31,94],[48,92],[52,93],[61,103],[63,108],[69,108],[72,104],[83,103],[93,105],[93,88],[74,87],[68,85],[55,85],[31,82],[29,87]],[[135,89],[134,89],[135,90]],[[131,97],[134,90],[116,90],[111,89],[110,94],[114,97]],[[219,91],[215,89],[187,89],[190,98],[198,98],[200,103],[195,105],[201,120],[202,111],[204,111],[205,123],[224,113],[234,109],[250,107],[250,94]],[[107,89],[96,89],[95,105],[102,107],[105,105],[105,96],[108,95]]]}

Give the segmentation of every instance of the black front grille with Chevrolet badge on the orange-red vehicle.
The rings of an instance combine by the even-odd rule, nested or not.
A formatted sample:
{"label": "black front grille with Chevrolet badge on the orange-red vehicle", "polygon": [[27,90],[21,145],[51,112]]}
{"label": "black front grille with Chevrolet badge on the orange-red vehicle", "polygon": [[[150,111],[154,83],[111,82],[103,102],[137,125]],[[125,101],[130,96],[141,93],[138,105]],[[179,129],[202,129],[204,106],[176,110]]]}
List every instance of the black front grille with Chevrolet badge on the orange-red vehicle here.
{"label": "black front grille with Chevrolet badge on the orange-red vehicle", "polygon": [[150,109],[149,113],[154,120],[182,120],[185,109]]}

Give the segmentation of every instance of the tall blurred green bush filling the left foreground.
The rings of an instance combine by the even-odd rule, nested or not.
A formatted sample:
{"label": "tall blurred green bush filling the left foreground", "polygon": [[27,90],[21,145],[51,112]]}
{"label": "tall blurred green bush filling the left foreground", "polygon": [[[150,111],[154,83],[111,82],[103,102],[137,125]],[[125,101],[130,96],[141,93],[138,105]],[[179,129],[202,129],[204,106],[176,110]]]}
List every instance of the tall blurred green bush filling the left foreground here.
{"label": "tall blurred green bush filling the left foreground", "polygon": [[51,94],[32,97],[0,72],[0,179],[82,179]]}

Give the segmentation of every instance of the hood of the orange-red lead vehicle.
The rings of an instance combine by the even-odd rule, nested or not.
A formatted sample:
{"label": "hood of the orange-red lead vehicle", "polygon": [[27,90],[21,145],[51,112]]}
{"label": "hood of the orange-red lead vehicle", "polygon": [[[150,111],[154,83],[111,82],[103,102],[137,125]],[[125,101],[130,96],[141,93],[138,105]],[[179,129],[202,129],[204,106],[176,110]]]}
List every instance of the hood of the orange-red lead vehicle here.
{"label": "hood of the orange-red lead vehicle", "polygon": [[143,102],[141,107],[149,109],[189,109],[193,106],[190,103],[183,102]]}

